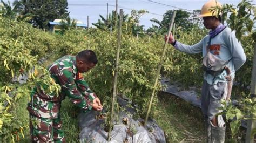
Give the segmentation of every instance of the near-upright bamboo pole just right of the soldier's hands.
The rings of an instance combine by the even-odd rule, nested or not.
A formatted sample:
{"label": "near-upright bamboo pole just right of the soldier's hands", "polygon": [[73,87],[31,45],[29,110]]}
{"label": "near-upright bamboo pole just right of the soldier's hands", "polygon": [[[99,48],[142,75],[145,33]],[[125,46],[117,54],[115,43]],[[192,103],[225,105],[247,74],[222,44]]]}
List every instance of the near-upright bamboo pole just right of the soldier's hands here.
{"label": "near-upright bamboo pole just right of the soldier's hands", "polygon": [[117,96],[117,76],[118,76],[118,65],[119,65],[119,53],[120,53],[120,46],[121,46],[121,30],[122,30],[122,17],[123,17],[123,9],[120,9],[120,18],[119,18],[119,25],[118,25],[118,37],[117,37],[117,57],[116,57],[116,69],[114,70],[114,81],[113,81],[113,97],[112,97],[112,107],[111,107],[111,116],[109,122],[109,134],[107,135],[107,140],[111,140],[111,127],[112,127],[112,118],[114,113],[114,101],[116,100]]}

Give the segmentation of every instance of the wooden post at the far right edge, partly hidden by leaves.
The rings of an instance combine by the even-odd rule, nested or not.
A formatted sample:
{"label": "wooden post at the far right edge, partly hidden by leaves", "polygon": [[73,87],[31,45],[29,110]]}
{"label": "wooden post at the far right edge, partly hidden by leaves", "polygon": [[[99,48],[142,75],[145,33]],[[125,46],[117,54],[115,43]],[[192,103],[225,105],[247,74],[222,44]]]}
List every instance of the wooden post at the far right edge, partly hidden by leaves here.
{"label": "wooden post at the far right edge, partly hidden by leaves", "polygon": [[[252,79],[251,79],[251,97],[253,101],[256,101],[256,43],[254,43],[254,56],[253,56],[253,66],[252,66]],[[247,122],[247,130],[246,130],[246,143],[254,142],[253,129],[256,127],[256,121],[253,118],[256,118],[252,114],[252,119]]]}

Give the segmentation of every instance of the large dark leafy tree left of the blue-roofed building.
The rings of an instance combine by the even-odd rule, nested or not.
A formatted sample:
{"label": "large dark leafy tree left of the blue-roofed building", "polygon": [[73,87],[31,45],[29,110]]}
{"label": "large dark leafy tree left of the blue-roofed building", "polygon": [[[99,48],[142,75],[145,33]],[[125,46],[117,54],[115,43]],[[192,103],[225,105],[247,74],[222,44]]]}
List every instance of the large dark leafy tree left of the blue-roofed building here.
{"label": "large dark leafy tree left of the blue-roofed building", "polygon": [[69,17],[68,2],[66,0],[21,0],[24,5],[20,15],[31,17],[29,23],[33,26],[47,29],[49,21],[67,19]]}

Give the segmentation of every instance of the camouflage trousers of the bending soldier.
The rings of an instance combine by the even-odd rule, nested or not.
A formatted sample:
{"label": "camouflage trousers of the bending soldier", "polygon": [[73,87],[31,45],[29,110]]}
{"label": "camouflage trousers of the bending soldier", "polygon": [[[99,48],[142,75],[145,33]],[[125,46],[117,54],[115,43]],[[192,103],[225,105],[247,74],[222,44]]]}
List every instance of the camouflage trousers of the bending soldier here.
{"label": "camouflage trousers of the bending soldier", "polygon": [[66,142],[60,114],[56,119],[40,118],[30,114],[32,142]]}

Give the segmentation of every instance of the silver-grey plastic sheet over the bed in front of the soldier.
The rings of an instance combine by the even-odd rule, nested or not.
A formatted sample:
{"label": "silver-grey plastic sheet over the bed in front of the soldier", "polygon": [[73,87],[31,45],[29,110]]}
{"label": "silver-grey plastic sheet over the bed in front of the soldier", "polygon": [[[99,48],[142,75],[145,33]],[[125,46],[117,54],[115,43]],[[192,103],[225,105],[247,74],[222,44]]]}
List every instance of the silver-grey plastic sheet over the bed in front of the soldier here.
{"label": "silver-grey plastic sheet over the bed in front of the soldier", "polygon": [[[111,141],[107,141],[107,132],[104,130],[106,124],[104,119],[96,119],[99,115],[96,111],[79,114],[79,126],[81,127],[81,142],[166,142],[164,132],[156,121],[149,119],[146,127],[142,125],[144,119],[134,120],[132,117],[135,110],[127,107],[129,102],[118,97],[118,103],[125,110],[114,114]],[[103,111],[104,112],[104,111]],[[128,119],[127,124],[123,119]]]}

